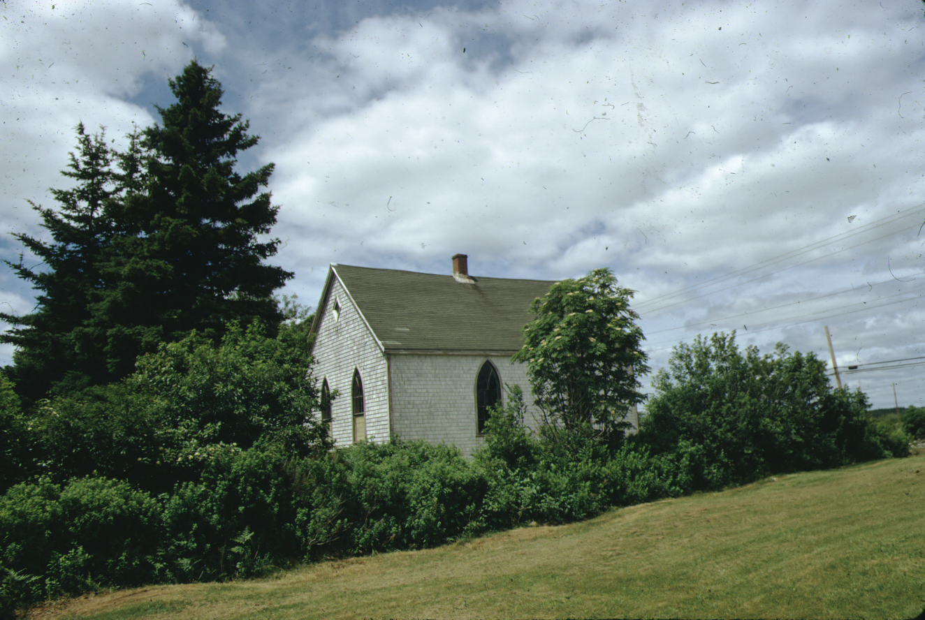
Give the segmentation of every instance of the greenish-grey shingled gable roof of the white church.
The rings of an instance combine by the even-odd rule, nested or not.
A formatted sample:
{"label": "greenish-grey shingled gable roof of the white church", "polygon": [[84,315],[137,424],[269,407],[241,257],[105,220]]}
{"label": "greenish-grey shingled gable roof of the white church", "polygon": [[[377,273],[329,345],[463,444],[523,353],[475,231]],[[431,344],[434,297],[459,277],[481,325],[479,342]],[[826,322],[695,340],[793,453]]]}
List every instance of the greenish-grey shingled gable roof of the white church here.
{"label": "greenish-grey shingled gable roof of the white church", "polygon": [[452,275],[332,264],[312,334],[334,278],[347,290],[384,351],[513,353],[524,346],[522,330],[533,320],[530,304],[555,284],[483,277],[462,284]]}

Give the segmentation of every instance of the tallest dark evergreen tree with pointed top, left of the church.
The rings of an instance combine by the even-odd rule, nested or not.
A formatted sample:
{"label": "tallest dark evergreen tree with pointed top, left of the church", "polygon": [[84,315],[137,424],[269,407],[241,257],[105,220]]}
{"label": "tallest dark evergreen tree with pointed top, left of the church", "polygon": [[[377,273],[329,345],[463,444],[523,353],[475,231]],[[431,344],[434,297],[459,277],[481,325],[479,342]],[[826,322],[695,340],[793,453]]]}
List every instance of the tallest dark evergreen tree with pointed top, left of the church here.
{"label": "tallest dark evergreen tree with pointed top, left of the church", "polygon": [[229,322],[260,319],[275,330],[282,315],[272,294],[292,276],[264,263],[279,240],[258,238],[277,221],[260,191],[273,164],[235,171],[237,153],[258,140],[247,121],[218,109],[221,85],[195,60],[169,83],[177,103],[157,106],[163,125],[143,131],[144,185],[123,202],[126,228],[105,251],[92,309],[113,376],[194,329],[215,340]]}

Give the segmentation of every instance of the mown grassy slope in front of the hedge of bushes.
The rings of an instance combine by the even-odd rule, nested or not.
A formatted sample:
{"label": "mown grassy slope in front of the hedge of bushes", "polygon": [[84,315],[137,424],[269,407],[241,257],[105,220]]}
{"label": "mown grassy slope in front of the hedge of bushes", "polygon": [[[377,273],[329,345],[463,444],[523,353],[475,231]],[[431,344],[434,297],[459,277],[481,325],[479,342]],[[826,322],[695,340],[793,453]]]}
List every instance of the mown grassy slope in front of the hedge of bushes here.
{"label": "mown grassy slope in front of the hedge of bushes", "polygon": [[36,610],[116,618],[914,618],[925,608],[925,459],[516,529],[283,577],[117,591]]}

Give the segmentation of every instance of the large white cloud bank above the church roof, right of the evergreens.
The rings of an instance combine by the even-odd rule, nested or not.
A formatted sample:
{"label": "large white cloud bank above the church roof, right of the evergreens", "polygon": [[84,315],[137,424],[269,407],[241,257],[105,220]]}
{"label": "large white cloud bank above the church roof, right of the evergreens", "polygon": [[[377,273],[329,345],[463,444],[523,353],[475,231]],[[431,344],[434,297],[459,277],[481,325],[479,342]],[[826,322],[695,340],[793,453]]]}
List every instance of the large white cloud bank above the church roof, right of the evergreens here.
{"label": "large white cloud bank above the church roof, right of the evergreens", "polygon": [[[315,89],[324,101],[290,115],[287,139],[265,154],[282,226],[319,233],[285,250],[290,268],[389,257],[442,269],[456,251],[475,269],[539,277],[610,264],[643,301],[925,200],[915,173],[925,39],[911,8],[528,6],[367,19],[316,42],[330,54],[332,79]],[[507,66],[502,53],[462,54],[473,24],[510,43]],[[818,250],[833,253],[745,289],[661,315],[649,307],[647,322],[859,286],[862,268],[889,278],[887,253],[920,268],[912,224]],[[796,333],[761,334],[767,344]]]}

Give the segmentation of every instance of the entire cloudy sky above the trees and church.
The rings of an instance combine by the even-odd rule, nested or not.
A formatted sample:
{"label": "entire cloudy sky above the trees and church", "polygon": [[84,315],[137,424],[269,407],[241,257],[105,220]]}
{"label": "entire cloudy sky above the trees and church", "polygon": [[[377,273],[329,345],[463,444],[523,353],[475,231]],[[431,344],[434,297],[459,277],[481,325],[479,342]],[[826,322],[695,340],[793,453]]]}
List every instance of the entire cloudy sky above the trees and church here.
{"label": "entire cloudy sky above the trees and church", "polygon": [[[133,123],[214,65],[274,162],[284,291],[327,265],[637,291],[653,368],[696,334],[829,359],[875,407],[925,404],[925,18],[866,2],[0,4],[0,257],[74,126]],[[29,261],[29,257],[26,258]],[[0,268],[0,304],[31,290]],[[12,349],[0,348],[0,364]],[[895,361],[901,360],[901,361]]]}

